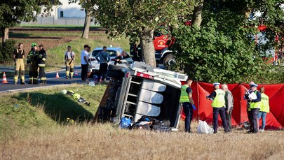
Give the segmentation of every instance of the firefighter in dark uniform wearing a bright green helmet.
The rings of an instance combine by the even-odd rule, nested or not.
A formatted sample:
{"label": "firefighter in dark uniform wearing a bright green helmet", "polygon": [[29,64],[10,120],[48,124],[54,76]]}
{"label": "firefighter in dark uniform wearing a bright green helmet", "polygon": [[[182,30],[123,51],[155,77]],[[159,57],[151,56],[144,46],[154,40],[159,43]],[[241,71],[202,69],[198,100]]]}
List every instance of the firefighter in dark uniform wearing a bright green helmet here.
{"label": "firefighter in dark uniform wearing a bright green helmet", "polygon": [[29,84],[38,84],[38,65],[37,59],[39,57],[39,51],[36,43],[32,43],[32,50],[27,54],[27,64],[29,64]]}

